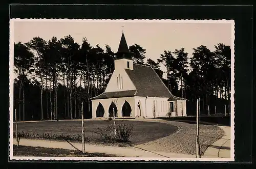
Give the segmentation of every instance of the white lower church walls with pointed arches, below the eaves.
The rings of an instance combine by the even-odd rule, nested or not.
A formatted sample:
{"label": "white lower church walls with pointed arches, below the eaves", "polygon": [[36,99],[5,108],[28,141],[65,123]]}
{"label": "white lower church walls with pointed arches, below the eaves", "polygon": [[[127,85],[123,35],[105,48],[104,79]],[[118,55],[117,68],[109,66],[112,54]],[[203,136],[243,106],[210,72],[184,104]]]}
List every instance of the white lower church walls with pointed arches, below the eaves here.
{"label": "white lower church walls with pointed arches, below the eaves", "polygon": [[[155,101],[155,117],[166,117],[170,111],[170,103],[167,101],[168,98],[158,98],[158,97],[123,97],[118,99],[98,99],[92,100],[92,112],[93,118],[96,118],[96,109],[99,102],[104,108],[104,118],[109,117],[109,107],[112,101],[117,107],[117,117],[122,117],[122,107],[125,101],[129,102],[132,112],[131,117],[144,117],[144,118],[154,118],[154,101]],[[186,116],[186,101],[178,100],[174,102],[174,112],[172,112],[172,117],[176,116]],[[138,109],[138,103],[140,109]],[[177,112],[177,114],[176,114]],[[183,112],[183,115],[182,115]]]}

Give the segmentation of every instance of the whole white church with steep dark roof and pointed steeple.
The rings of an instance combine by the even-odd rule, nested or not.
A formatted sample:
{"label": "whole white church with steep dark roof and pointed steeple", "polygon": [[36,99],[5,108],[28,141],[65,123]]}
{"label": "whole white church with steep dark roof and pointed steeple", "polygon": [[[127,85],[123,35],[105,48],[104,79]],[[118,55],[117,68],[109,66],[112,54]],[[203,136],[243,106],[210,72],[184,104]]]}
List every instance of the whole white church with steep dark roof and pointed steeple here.
{"label": "whole white church with steep dark roof and pointed steeple", "polygon": [[133,63],[123,33],[108,86],[91,100],[93,119],[186,116],[186,99],[170,93],[152,67]]}

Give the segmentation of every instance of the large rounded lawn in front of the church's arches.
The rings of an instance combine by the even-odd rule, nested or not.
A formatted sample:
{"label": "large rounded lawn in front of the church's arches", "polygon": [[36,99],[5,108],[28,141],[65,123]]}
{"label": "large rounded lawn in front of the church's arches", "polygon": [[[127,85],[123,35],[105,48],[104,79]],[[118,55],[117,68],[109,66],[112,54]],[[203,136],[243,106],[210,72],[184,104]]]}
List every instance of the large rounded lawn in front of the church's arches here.
{"label": "large rounded lawn in front of the church's arches", "polygon": [[[117,124],[129,124],[133,126],[131,144],[143,144],[156,140],[161,137],[175,133],[178,127],[155,122],[142,122],[132,120],[117,120]],[[100,143],[100,129],[105,129],[108,125],[113,124],[113,121],[84,121],[86,129],[86,137],[91,143]],[[15,125],[15,124],[14,124]],[[24,131],[30,134],[81,134],[81,121],[48,121],[48,122],[31,122],[18,123],[18,131]],[[14,127],[15,132],[15,127]]]}

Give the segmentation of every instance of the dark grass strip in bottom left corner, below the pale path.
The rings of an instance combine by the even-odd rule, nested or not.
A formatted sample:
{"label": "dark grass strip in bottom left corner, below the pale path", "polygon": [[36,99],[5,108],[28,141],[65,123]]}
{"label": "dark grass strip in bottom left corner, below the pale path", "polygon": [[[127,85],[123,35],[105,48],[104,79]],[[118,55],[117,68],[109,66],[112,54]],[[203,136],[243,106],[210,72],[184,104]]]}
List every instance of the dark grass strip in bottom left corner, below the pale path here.
{"label": "dark grass strip in bottom left corner, below the pale path", "polygon": [[74,150],[13,145],[13,156],[39,157],[120,157],[105,153],[81,153]]}

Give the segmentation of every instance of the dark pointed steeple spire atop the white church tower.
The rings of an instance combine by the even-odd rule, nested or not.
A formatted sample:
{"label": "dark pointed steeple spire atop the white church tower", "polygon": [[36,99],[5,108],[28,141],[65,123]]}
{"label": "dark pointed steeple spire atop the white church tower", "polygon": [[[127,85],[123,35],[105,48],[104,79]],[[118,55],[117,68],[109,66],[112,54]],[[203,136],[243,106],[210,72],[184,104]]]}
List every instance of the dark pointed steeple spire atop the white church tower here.
{"label": "dark pointed steeple spire atop the white church tower", "polygon": [[116,54],[116,59],[129,59],[132,60],[132,55],[129,51],[129,48],[127,46],[124,34],[122,33],[122,37],[120,40],[120,44],[118,47]]}

